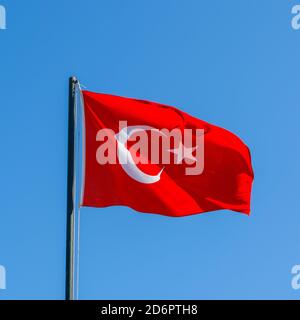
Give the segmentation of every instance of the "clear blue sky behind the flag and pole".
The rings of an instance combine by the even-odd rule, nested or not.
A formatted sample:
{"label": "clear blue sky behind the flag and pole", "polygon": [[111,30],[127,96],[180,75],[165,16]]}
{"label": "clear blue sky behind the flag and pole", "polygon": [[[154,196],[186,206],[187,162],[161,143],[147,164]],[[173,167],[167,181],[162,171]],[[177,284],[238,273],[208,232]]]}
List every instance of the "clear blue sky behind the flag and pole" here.
{"label": "clear blue sky behind the flag and pole", "polygon": [[250,217],[82,209],[81,299],[300,299],[296,3],[0,0],[0,299],[64,298],[73,74],[236,133],[255,172]]}

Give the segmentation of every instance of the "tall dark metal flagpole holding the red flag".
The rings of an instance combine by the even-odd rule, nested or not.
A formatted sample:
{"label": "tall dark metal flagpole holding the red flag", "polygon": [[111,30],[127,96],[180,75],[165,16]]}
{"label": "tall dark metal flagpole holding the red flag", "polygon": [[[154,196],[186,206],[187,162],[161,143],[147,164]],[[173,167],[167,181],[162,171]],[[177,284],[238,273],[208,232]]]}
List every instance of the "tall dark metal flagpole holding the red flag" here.
{"label": "tall dark metal flagpole holding the red flag", "polygon": [[75,152],[75,77],[69,78],[69,115],[68,115],[68,177],[67,177],[67,230],[66,230],[66,300],[74,299],[74,152]]}

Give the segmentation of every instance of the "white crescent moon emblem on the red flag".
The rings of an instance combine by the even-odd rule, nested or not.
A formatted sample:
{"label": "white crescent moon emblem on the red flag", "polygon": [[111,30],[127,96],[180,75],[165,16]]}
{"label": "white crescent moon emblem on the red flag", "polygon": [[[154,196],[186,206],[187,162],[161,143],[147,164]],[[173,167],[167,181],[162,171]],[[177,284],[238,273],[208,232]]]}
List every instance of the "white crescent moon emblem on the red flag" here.
{"label": "white crescent moon emblem on the red flag", "polygon": [[160,180],[160,175],[162,174],[163,169],[157,175],[149,175],[140,170],[133,158],[129,150],[126,148],[125,144],[128,139],[136,132],[152,130],[159,132],[158,129],[150,127],[150,126],[128,126],[120,130],[118,134],[115,135],[115,138],[118,143],[118,158],[120,165],[123,170],[134,180],[140,183],[151,184],[158,182]]}

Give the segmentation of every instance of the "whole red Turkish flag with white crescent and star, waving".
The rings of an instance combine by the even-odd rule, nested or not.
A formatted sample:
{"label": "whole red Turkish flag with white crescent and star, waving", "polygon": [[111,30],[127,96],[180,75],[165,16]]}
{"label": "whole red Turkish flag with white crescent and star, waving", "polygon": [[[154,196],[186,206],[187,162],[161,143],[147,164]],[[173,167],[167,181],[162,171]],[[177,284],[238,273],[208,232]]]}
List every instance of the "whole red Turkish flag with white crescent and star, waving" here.
{"label": "whole red Turkish flag with white crescent and star, waving", "polygon": [[[82,95],[82,206],[123,205],[176,217],[220,209],[250,213],[251,157],[236,135],[163,104]],[[172,130],[182,139],[168,136]]]}

